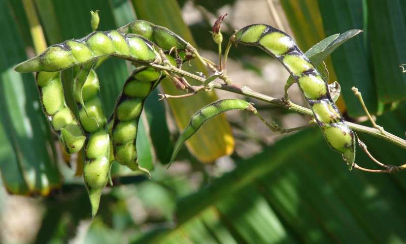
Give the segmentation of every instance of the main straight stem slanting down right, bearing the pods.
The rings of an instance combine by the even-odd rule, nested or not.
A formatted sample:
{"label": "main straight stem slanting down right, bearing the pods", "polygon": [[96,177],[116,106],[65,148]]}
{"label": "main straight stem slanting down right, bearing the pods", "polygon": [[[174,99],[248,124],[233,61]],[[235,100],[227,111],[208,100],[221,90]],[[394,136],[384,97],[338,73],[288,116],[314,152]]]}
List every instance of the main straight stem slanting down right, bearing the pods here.
{"label": "main straight stem slanting down right, bearing the pods", "polygon": [[[183,75],[186,77],[190,77],[192,79],[200,81],[201,83],[205,82],[205,78],[191,74],[187,71],[178,69],[176,67],[166,67],[166,66],[161,66],[161,65],[156,65],[156,64],[152,64],[151,66],[154,68],[157,68],[157,69],[161,69],[161,70],[165,70],[168,72],[177,73],[177,74],[180,74],[180,75]],[[224,66],[224,68],[225,68],[225,66]],[[290,105],[287,106],[286,103],[284,103],[281,99],[255,92],[255,90],[252,90],[251,88],[249,88],[247,86],[239,87],[239,86],[233,85],[233,84],[226,85],[226,84],[218,84],[215,82],[212,82],[209,85],[215,89],[226,90],[227,92],[230,92],[230,93],[235,93],[235,94],[240,94],[240,95],[244,95],[247,97],[255,98],[255,99],[267,102],[267,103],[272,103],[277,106],[284,107],[286,109],[289,109],[289,110],[292,110],[292,111],[295,111],[298,113],[302,113],[302,114],[306,114],[306,115],[314,117],[312,110],[310,110],[308,108],[302,107],[295,103],[290,103]],[[369,135],[372,135],[372,136],[375,136],[378,138],[382,138],[393,144],[396,144],[397,146],[399,146],[403,149],[406,149],[406,140],[404,140],[400,137],[397,137],[389,132],[381,131],[377,128],[371,128],[371,127],[367,127],[367,126],[358,125],[358,124],[351,123],[348,121],[346,121],[346,123],[348,124],[348,126],[351,129],[353,129],[355,131],[363,132],[363,133],[366,133],[366,134],[369,134]]]}

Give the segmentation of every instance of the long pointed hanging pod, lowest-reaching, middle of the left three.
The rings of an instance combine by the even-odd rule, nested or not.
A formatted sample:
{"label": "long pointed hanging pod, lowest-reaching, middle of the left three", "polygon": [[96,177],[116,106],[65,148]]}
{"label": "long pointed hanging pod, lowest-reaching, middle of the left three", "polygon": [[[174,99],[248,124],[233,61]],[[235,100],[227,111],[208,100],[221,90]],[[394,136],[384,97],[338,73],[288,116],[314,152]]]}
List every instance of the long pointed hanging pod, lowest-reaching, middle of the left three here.
{"label": "long pointed hanging pod, lowest-reaching, middle of the left three", "polygon": [[107,119],[99,97],[99,80],[93,63],[80,67],[73,84],[73,96],[79,107],[79,120],[86,132],[83,178],[89,192],[92,216],[95,216],[101,191],[110,171],[110,136]]}

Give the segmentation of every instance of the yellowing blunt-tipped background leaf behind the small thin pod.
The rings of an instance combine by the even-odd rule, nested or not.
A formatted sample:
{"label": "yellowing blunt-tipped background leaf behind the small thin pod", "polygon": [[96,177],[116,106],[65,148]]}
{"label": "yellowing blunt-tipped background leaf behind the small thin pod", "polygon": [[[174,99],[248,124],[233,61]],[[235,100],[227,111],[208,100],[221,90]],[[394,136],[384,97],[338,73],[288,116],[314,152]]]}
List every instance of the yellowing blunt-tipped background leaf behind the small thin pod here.
{"label": "yellowing blunt-tipped background leaf behind the small thin pod", "polygon": [[[132,4],[139,19],[145,19],[165,26],[195,46],[189,28],[182,19],[177,1],[133,0]],[[186,70],[189,69],[191,72],[205,71],[205,67],[198,62],[191,62],[191,65],[196,68],[191,70],[188,65],[185,65],[184,68]],[[193,81],[190,82],[193,83]],[[161,85],[164,93],[181,94],[168,79],[163,80]],[[180,130],[183,130],[188,125],[193,113],[215,100],[217,100],[216,94],[210,92],[188,98],[169,99],[168,104],[171,107],[178,127]],[[234,149],[234,139],[225,116],[221,115],[208,121],[202,126],[200,131],[187,141],[186,145],[197,159],[206,163],[213,162],[221,156],[231,154]]]}

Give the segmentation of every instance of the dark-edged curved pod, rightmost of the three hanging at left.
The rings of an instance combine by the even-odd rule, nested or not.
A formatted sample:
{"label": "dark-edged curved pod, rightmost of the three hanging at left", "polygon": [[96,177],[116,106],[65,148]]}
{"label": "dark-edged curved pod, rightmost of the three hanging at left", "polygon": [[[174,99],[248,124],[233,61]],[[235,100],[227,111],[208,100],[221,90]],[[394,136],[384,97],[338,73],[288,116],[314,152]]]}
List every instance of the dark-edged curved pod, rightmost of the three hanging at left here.
{"label": "dark-edged curved pod, rightmost of the three hanging at left", "polygon": [[113,115],[109,119],[115,160],[132,170],[141,170],[137,161],[137,130],[144,102],[162,79],[161,72],[141,67],[125,81]]}

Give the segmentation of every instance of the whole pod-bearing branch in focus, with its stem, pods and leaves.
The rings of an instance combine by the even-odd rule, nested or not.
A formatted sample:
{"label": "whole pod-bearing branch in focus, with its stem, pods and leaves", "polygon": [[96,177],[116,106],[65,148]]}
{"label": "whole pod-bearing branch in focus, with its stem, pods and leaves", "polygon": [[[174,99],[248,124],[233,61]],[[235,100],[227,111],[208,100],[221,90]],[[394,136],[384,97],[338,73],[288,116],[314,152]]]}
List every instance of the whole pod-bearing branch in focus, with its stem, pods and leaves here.
{"label": "whole pod-bearing branch in focus, with its stem, pods and leaves", "polygon": [[[92,19],[94,19],[94,15],[92,16]],[[224,15],[220,16],[215,25],[220,25],[223,18]],[[97,21],[93,21],[93,23],[94,22]],[[93,31],[95,31],[96,27],[96,24],[92,24]],[[213,29],[215,31],[214,34],[220,35],[219,28]],[[122,34],[121,32],[131,32],[131,34]],[[136,34],[141,34],[142,37]],[[346,36],[346,39],[349,39],[353,36],[354,35]],[[149,40],[146,40],[144,38],[147,38],[154,43],[150,43]],[[215,35],[214,39],[216,43],[221,43],[221,41],[219,41],[220,39],[216,38]],[[323,55],[323,52],[331,52],[334,48],[334,45],[337,46],[343,43],[337,42],[336,39],[337,36],[335,38],[326,38],[319,44],[316,44],[314,50],[310,53],[314,56],[319,57],[318,63],[322,62],[323,56],[326,56]],[[238,88],[233,86],[231,79],[226,74],[226,70],[223,69],[226,68],[228,52],[230,50],[231,44],[234,42],[259,46],[270,54],[276,56],[277,59],[279,59],[281,63],[284,64],[291,75],[299,83],[304,96],[308,99],[308,102],[313,109],[314,114],[312,112],[308,112],[306,109],[301,108],[298,105],[292,104],[288,100],[287,94],[285,94],[285,97],[282,100],[269,99],[266,98],[265,95],[254,93],[250,90],[246,92],[245,90],[247,89],[244,90],[244,87]],[[215,74],[205,79],[178,68],[177,66],[180,67],[180,65],[182,64],[182,58],[177,52],[178,49],[186,52],[184,57],[189,56],[197,58],[202,64],[206,65]],[[180,60],[180,62],[175,62],[175,59],[171,58],[171,56],[166,56],[164,54],[164,50],[169,50],[169,54],[171,54],[171,52],[174,52],[175,59]],[[220,64],[222,64],[221,54],[221,50],[219,50]],[[107,133],[108,123],[104,115],[104,111],[101,108],[100,98],[97,96],[97,75],[95,74],[93,69],[96,67],[96,63],[98,62],[97,59],[103,61],[103,59],[100,58],[111,55],[130,60],[133,65],[141,65],[143,67],[136,70],[132,74],[133,78],[129,78],[123,86],[123,92],[121,93],[120,98],[117,100],[114,113],[112,115],[112,124],[111,129],[109,130],[111,135],[109,136]],[[172,63],[170,62],[170,60],[168,60],[168,58],[173,60]],[[188,92],[187,94],[181,96],[161,95],[162,98],[182,98],[195,95],[202,90],[220,88],[228,90],[230,92],[255,97],[263,101],[277,103],[279,105],[285,106],[286,108],[299,112],[305,112],[309,115],[314,116],[317,124],[323,129],[322,131],[330,146],[344,155],[344,159],[346,160],[347,164],[350,165],[350,167],[354,165],[357,169],[375,172],[394,172],[405,168],[405,166],[397,167],[384,165],[375,160],[373,157],[371,157],[371,159],[373,159],[380,166],[383,166],[386,169],[369,170],[364,169],[354,163],[355,136],[351,129],[349,129],[349,126],[347,126],[347,123],[345,122],[343,116],[340,114],[339,110],[334,105],[334,102],[328,91],[331,87],[329,87],[327,85],[327,82],[323,80],[322,75],[317,71],[315,66],[310,63],[308,57],[304,56],[301,53],[301,51],[297,48],[297,46],[295,46],[291,38],[285,33],[282,33],[279,30],[266,25],[251,25],[244,27],[241,31],[236,32],[230,37],[230,41],[225,51],[224,64],[220,64],[218,65],[220,69],[218,69],[217,65],[214,62],[200,56],[200,54],[193,46],[186,43],[182,38],[169,31],[168,29],[151,24],[147,21],[135,21],[119,28],[118,31],[110,31],[104,33],[94,32],[83,39],[66,41],[62,44],[53,45],[39,56],[33,57],[21,63],[15,68],[15,70],[18,72],[37,71],[41,74],[43,72],[55,72],[64,70],[72,66],[80,67],[79,71],[77,71],[77,74],[74,75],[74,77],[76,78],[73,82],[73,90],[74,98],[80,107],[80,125],[87,133],[84,179],[92,203],[91,205],[93,216],[96,214],[98,209],[101,190],[103,190],[108,181],[110,162],[113,161],[113,159],[110,158],[112,155],[110,153],[111,144],[111,148],[115,151],[113,155],[115,155],[115,157],[118,159],[118,162],[129,166],[133,170],[141,169],[142,171],[146,171],[145,169],[140,168],[136,161],[137,152],[134,146],[135,136],[131,136],[128,139],[125,138],[125,136],[128,135],[124,134],[136,134],[138,124],[137,120],[140,117],[145,98],[148,97],[151,90],[159,83],[156,81],[159,81],[161,79],[161,76],[163,76],[161,73],[162,71],[165,73],[165,75],[171,77],[177,87]],[[47,76],[47,73],[43,74],[45,77],[55,77],[55,73],[51,73],[49,74],[49,76]],[[199,80],[203,84],[192,86],[179,75]],[[222,79],[225,84],[216,85],[216,83],[213,82],[216,78]],[[48,85],[48,83],[42,84],[42,80],[43,79],[40,79],[38,81],[40,87]],[[48,78],[45,80],[49,82],[50,79]],[[151,83],[149,84],[149,86],[145,87],[143,83],[137,82],[137,80],[141,82],[154,83]],[[97,82],[94,83],[94,81]],[[56,79],[54,83],[60,84],[60,82],[57,82],[58,79]],[[285,88],[286,92],[291,84],[291,82],[288,83],[287,87]],[[47,88],[47,86],[45,86],[45,88]],[[141,89],[138,91],[138,88]],[[66,105],[64,105],[65,102],[63,96],[61,95],[61,86],[59,85],[58,87],[51,90],[56,90],[56,92],[58,92],[56,93],[58,102],[56,104],[51,104],[52,106],[48,105],[50,103],[49,101],[53,100],[49,99],[48,96],[44,97],[44,93],[41,93],[42,100],[45,101],[43,102],[44,110],[48,114],[56,114],[60,109],[63,108],[63,106],[66,107]],[[142,96],[137,96],[137,93],[134,95],[134,90],[137,90],[137,93],[140,92]],[[365,111],[367,112],[366,107],[363,104],[362,97],[357,90],[354,90],[354,92],[356,93],[356,95],[358,95]],[[48,93],[45,93],[45,95],[47,94]],[[224,103],[226,103],[227,106],[222,106],[222,104]],[[217,104],[220,106],[217,106]],[[186,134],[180,137],[179,142],[175,146],[175,152],[171,159],[171,162],[173,161],[183,142],[191,135],[193,135],[194,132],[196,132],[197,129],[207,119],[220,114],[223,111],[235,108],[250,108],[250,111],[257,114],[257,111],[255,110],[255,108],[252,107],[252,105],[239,100],[223,100],[202,108],[192,117],[191,123],[189,124],[191,126],[185,129]],[[73,121],[73,118],[71,117],[71,111],[67,111],[62,115],[64,115],[65,120],[70,121],[70,123],[71,121]],[[265,121],[259,114],[257,115],[270,129],[274,131],[287,132],[296,130],[284,130],[283,128],[277,126],[275,123],[267,123],[267,121]],[[371,119],[370,116],[369,118]],[[134,124],[133,121],[137,123]],[[57,128],[59,129],[60,127],[65,127],[67,124],[69,123],[64,123]],[[375,128],[365,128],[360,125],[354,124],[350,124],[350,127],[355,130],[360,130],[368,132],[372,135],[380,136],[394,143],[400,144],[403,147],[406,147],[406,143],[404,142],[404,140],[385,132],[383,128],[377,126],[375,122],[373,123],[373,125]],[[55,128],[55,125],[53,126]],[[380,131],[380,133],[378,134],[376,130]],[[110,138],[113,138],[113,143],[110,143]],[[62,140],[62,142],[64,142],[64,140]],[[69,143],[72,144],[71,142]],[[127,143],[129,147],[125,145],[123,147],[123,143]],[[360,141],[359,143],[369,155],[364,144]],[[123,158],[125,157],[127,157],[128,159],[124,160]],[[133,163],[134,166],[131,166],[131,163]]]}

